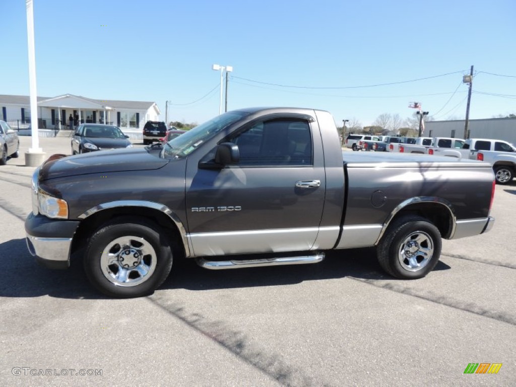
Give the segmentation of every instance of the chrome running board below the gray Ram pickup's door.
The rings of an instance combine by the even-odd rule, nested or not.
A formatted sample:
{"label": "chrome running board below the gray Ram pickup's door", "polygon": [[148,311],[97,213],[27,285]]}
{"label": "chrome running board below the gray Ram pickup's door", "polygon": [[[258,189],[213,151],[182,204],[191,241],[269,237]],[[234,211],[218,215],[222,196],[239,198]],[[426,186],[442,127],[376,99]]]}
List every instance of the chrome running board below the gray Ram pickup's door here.
{"label": "chrome running board below the gray Ram pickup's door", "polygon": [[313,255],[285,256],[277,258],[262,258],[255,260],[231,260],[231,261],[209,261],[204,258],[196,258],[199,266],[205,269],[222,270],[238,269],[244,267],[262,267],[279,265],[302,265],[307,263],[318,263],[324,260],[325,254],[319,252]]}

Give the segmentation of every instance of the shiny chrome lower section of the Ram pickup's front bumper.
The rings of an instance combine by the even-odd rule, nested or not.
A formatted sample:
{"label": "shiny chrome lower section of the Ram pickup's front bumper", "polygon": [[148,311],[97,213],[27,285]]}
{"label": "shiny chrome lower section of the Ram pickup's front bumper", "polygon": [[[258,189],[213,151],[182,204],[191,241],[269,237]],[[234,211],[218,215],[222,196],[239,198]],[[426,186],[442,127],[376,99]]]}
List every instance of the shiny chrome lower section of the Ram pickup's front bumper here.
{"label": "shiny chrome lower section of the Ram pickup's front bumper", "polygon": [[25,240],[30,254],[38,257],[38,262],[44,266],[50,268],[70,266],[72,238],[42,238],[27,234]]}

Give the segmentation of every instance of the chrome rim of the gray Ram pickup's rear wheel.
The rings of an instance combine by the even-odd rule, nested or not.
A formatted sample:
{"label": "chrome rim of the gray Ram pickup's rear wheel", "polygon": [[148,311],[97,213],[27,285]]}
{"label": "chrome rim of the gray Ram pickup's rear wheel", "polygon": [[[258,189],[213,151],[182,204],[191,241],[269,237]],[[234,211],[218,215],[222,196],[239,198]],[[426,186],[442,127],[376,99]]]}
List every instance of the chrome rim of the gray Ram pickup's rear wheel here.
{"label": "chrome rim of the gray Ram pickup's rear wheel", "polygon": [[408,271],[421,270],[430,262],[433,248],[430,235],[423,231],[415,231],[409,234],[399,246],[399,264]]}

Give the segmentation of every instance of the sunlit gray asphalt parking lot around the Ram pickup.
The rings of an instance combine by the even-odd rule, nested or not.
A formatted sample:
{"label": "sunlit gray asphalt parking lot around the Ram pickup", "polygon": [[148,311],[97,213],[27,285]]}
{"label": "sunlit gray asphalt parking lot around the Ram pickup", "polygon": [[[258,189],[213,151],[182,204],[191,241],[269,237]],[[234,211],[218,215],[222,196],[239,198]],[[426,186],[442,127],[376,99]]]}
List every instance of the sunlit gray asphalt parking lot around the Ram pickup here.
{"label": "sunlit gray asphalt parking lot around the Ram pickup", "polygon": [[[114,300],[80,265],[28,253],[30,141],[0,167],[0,385],[516,385],[516,181],[496,186],[491,232],[443,241],[421,280],[385,275],[372,249],[227,271],[183,260],[154,295]],[[70,153],[67,138],[40,146]]]}

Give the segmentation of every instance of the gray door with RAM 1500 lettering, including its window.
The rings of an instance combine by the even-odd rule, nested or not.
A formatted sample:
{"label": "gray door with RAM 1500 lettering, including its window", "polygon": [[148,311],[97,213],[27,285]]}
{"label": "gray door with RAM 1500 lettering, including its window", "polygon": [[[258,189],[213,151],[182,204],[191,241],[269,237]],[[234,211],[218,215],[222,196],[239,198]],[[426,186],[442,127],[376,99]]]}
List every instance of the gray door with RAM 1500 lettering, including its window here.
{"label": "gray door with RAM 1500 lettering, including its window", "polygon": [[186,211],[194,254],[310,250],[326,187],[316,121],[252,122],[224,142],[237,144],[238,165],[197,169],[195,159],[195,165],[188,160]]}

